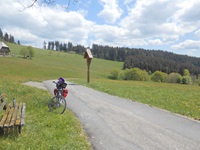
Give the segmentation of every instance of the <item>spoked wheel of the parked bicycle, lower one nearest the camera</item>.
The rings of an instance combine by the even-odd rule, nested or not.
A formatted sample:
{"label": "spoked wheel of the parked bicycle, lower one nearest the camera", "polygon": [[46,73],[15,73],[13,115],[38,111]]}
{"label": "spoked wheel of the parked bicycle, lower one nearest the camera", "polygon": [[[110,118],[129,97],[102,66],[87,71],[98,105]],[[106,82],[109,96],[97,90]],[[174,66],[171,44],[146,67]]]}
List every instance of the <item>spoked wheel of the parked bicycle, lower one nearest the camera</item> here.
{"label": "spoked wheel of the parked bicycle, lower one nearest the camera", "polygon": [[66,109],[67,103],[64,97],[54,96],[49,102],[49,111],[62,114]]}

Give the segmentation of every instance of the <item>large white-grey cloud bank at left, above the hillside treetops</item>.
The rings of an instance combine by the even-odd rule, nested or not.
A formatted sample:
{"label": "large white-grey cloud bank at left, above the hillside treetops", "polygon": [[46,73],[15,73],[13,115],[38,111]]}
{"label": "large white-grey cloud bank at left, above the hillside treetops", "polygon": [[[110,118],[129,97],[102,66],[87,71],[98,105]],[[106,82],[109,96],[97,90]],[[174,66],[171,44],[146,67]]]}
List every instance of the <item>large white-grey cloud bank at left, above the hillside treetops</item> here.
{"label": "large white-grey cloud bank at left, above the hillside treetops", "polygon": [[[0,25],[3,32],[11,33],[22,44],[30,44],[37,41],[36,38],[40,40],[40,47],[44,40],[87,44],[88,33],[93,23],[84,18],[82,11],[66,12],[64,9],[33,7],[20,12],[19,3],[12,0],[6,3],[0,1],[0,6],[0,13],[6,14],[6,18],[0,15],[0,20],[4,20],[3,27]],[[13,7],[12,11],[8,6]]]}

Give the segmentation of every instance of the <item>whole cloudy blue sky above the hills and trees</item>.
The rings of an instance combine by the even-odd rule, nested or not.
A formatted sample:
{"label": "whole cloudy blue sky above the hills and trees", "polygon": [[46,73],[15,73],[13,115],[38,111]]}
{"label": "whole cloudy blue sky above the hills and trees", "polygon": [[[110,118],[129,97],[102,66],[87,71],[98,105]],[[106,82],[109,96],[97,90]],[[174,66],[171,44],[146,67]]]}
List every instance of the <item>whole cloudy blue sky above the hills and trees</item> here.
{"label": "whole cloudy blue sky above the hills and trees", "polygon": [[[21,44],[43,42],[155,49],[200,57],[200,0],[79,0],[66,9],[1,0],[0,28]],[[23,11],[22,11],[23,10]]]}

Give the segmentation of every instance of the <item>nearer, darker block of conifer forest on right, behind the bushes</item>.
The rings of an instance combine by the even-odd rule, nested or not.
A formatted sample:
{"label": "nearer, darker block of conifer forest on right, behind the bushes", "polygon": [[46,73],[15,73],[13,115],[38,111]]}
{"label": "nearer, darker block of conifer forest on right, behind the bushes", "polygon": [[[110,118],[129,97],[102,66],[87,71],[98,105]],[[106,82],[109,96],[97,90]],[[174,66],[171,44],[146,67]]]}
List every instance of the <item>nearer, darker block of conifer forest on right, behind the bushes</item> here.
{"label": "nearer, darker block of conifer forest on right, behind the bushes", "polygon": [[124,69],[138,67],[146,71],[156,70],[183,75],[184,69],[188,69],[192,75],[200,74],[200,58],[155,50],[133,50],[124,61]]}

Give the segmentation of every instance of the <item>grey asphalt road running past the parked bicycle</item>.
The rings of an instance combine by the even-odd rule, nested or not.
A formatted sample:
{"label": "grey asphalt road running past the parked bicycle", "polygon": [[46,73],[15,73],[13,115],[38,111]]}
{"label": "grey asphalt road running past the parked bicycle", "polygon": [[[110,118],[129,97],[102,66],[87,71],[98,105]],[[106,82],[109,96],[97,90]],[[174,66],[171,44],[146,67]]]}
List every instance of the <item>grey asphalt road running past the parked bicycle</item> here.
{"label": "grey asphalt road running past the parked bicycle", "polygon": [[[52,81],[44,85],[53,94]],[[95,150],[200,150],[200,122],[68,83],[68,108]]]}

